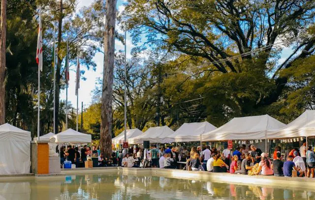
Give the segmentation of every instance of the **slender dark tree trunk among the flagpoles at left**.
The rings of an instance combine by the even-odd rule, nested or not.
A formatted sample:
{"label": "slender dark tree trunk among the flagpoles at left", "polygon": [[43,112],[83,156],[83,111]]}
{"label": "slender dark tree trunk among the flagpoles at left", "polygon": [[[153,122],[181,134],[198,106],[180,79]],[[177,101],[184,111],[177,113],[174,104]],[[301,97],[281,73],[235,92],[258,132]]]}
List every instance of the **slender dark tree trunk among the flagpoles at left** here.
{"label": "slender dark tree trunk among the flagpoles at left", "polygon": [[56,95],[55,95],[55,130],[59,132],[59,99],[60,99],[60,79],[61,79],[61,64],[62,59],[58,56],[59,51],[61,50],[61,42],[62,42],[62,31],[63,31],[63,0],[60,0],[60,8],[59,8],[59,17],[58,17],[58,38],[57,38],[57,67],[56,67]]}

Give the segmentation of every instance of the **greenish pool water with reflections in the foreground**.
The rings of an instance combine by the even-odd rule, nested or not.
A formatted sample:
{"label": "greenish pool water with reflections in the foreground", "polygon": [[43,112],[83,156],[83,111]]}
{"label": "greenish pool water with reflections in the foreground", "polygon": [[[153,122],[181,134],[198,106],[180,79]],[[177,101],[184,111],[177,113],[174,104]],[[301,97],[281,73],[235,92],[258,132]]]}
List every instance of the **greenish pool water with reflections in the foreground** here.
{"label": "greenish pool water with reflections in the foreground", "polygon": [[315,190],[87,174],[0,182],[0,200],[313,200]]}

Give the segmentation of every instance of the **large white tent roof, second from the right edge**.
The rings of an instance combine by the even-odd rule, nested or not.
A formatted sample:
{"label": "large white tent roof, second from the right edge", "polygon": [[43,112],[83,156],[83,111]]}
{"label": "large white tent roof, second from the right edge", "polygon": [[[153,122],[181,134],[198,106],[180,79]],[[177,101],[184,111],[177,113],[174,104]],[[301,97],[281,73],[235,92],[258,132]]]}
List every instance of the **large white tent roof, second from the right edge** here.
{"label": "large white tent roof, second from the right edge", "polygon": [[266,130],[281,128],[284,123],[265,115],[235,117],[220,128],[202,135],[203,141],[265,139]]}

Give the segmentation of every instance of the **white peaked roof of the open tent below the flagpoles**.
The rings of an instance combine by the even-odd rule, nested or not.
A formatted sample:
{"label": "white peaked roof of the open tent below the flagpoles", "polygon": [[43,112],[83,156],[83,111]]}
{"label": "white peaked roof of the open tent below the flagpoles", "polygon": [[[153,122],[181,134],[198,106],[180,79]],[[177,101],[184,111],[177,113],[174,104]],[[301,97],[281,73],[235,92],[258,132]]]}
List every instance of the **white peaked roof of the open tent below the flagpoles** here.
{"label": "white peaked roof of the open tent below the flagpoles", "polygon": [[91,143],[92,141],[90,134],[80,133],[70,128],[51,138],[55,138],[56,143]]}

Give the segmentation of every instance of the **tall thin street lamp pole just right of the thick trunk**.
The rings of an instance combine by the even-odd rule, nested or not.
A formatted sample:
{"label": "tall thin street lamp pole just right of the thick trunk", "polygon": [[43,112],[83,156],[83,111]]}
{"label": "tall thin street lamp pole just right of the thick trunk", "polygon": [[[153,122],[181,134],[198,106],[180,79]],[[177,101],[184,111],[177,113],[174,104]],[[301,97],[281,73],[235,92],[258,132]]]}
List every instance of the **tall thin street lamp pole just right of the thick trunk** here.
{"label": "tall thin street lamp pole just right of the thick trunk", "polygon": [[130,21],[130,20],[127,20],[125,22],[125,80],[124,80],[124,93],[125,93],[125,98],[124,98],[124,126],[125,126],[125,142],[127,142],[127,91],[126,91],[126,80],[127,80],[127,69],[126,69],[126,66],[127,66],[127,59],[126,59],[126,55],[127,55],[127,23],[134,23],[134,21]]}

